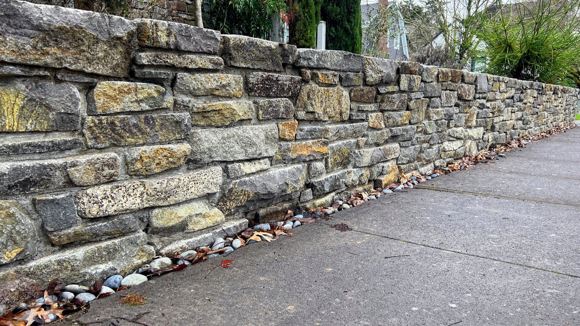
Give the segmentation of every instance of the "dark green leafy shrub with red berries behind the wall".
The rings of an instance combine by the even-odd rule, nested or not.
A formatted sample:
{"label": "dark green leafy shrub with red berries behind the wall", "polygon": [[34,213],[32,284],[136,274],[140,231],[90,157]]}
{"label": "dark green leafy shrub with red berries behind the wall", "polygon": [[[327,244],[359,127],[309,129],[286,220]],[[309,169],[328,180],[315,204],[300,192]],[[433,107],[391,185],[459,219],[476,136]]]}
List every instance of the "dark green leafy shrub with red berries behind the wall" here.
{"label": "dark green leafy shrub with red berries behind the wall", "polygon": [[281,0],[204,0],[202,8],[205,28],[258,38],[270,36],[273,14],[287,11]]}

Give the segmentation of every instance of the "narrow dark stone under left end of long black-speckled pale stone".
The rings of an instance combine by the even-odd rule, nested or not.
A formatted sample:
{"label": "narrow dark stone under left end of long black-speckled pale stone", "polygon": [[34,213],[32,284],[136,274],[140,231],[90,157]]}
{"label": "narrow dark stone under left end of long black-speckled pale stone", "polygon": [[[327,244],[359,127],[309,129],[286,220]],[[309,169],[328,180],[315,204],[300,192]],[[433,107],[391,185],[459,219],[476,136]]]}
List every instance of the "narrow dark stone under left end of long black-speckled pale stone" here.
{"label": "narrow dark stone under left end of long black-speckled pale stone", "polygon": [[105,222],[89,222],[70,229],[48,232],[47,235],[53,245],[63,245],[77,241],[101,241],[139,230],[141,227],[137,217],[126,215]]}

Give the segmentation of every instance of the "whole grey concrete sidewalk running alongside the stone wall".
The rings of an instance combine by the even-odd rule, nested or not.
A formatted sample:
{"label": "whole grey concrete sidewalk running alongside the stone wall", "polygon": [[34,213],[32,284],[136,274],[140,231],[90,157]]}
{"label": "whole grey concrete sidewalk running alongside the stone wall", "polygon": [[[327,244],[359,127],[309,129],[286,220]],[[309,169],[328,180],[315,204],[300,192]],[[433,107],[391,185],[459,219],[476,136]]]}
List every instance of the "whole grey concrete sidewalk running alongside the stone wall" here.
{"label": "whole grey concrete sidewalk running alongside the stone wall", "polygon": [[577,128],[238,249],[230,269],[212,260],[132,288],[146,305],[96,300],[78,321],[579,325],[579,212]]}

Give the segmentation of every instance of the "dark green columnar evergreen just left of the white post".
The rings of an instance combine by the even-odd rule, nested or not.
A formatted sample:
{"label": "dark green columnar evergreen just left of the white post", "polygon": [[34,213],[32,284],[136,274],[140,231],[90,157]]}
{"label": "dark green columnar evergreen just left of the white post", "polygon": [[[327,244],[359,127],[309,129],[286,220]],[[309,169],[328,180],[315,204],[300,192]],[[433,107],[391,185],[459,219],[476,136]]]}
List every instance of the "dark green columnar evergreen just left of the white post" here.
{"label": "dark green columnar evergreen just left of the white post", "polygon": [[298,48],[316,48],[320,0],[300,0],[294,4],[293,9],[294,15],[290,19],[293,29],[291,28],[289,43]]}

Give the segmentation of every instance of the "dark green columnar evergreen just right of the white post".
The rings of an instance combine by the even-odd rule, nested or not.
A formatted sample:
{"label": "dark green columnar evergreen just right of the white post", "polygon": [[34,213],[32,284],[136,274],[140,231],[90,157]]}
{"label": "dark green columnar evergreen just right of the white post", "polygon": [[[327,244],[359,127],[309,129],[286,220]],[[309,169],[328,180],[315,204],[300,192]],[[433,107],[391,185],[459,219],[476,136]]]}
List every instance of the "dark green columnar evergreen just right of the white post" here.
{"label": "dark green columnar evergreen just right of the white post", "polygon": [[326,21],[326,48],[361,53],[362,21],[360,0],[325,0],[321,18]]}

